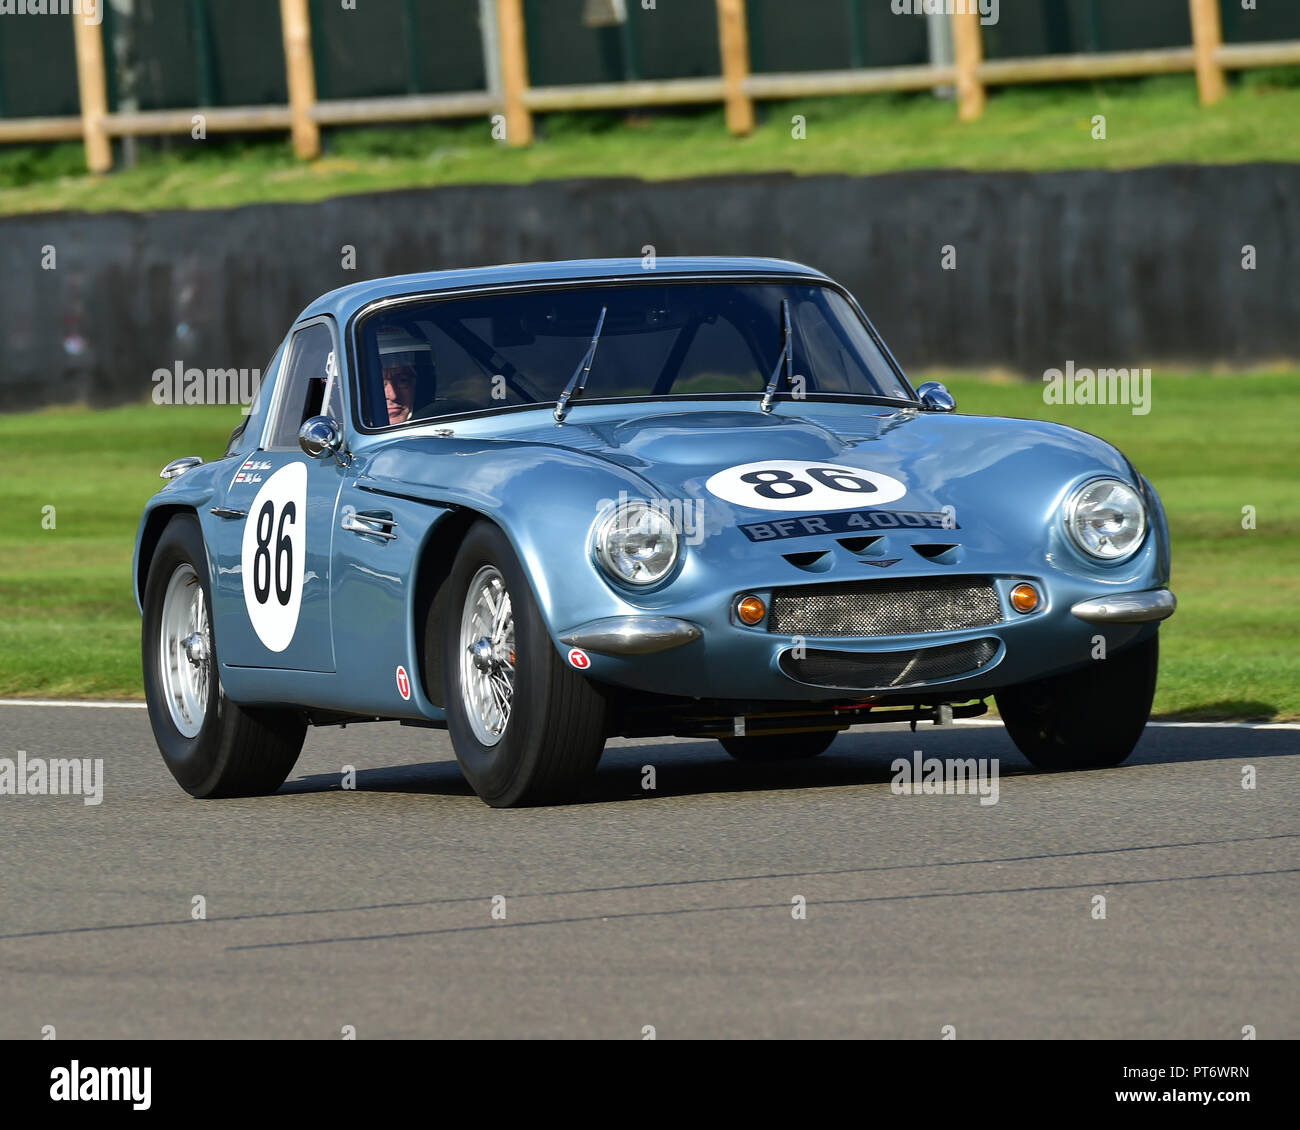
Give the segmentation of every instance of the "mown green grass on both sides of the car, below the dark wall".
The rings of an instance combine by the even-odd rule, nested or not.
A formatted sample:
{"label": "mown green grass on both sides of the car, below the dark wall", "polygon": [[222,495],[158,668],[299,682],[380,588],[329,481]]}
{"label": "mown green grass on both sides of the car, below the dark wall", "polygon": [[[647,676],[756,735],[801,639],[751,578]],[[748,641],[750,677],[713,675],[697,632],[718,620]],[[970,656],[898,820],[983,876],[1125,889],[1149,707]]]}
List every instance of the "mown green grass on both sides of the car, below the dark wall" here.
{"label": "mown green grass on both sides of the car, below the dark wall", "polygon": [[[1152,411],[1048,407],[1039,382],[937,374],[962,411],[1053,419],[1104,436],[1160,489],[1179,610],[1162,633],[1157,710],[1300,718],[1300,373],[1157,371]],[[230,408],[0,416],[0,696],[139,697],[130,562],[144,501],[177,455],[214,458]],[[42,529],[42,507],[57,528]],[[1256,507],[1257,528],[1242,528]]]}

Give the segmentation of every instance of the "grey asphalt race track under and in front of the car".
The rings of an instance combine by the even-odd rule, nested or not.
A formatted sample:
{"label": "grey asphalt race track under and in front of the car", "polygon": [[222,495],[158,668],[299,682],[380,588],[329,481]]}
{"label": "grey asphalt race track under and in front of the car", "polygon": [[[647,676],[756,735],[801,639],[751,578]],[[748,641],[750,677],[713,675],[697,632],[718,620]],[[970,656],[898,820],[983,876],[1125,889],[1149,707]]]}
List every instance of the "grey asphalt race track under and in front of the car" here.
{"label": "grey asphalt race track under and in front of the car", "polygon": [[[997,804],[893,793],[915,749],[998,758]],[[0,1038],[1300,1036],[1295,727],[1062,775],[989,726],[616,741],[586,802],[512,811],[396,724],[311,731],[260,800],[182,793],[143,710],[0,706],[18,750],[105,784],[0,796]]]}

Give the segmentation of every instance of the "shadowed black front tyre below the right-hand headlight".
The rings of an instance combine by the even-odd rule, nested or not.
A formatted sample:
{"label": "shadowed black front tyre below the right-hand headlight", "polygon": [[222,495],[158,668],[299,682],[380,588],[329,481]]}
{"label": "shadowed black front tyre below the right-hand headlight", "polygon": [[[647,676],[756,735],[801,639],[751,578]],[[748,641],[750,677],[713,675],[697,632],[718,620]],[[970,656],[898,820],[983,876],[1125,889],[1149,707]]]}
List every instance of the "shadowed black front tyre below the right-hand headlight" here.
{"label": "shadowed black front tyre below the right-hand headlight", "polygon": [[1141,737],[1156,696],[1160,637],[1066,675],[996,696],[1011,741],[1035,769],[1056,772],[1119,765]]}

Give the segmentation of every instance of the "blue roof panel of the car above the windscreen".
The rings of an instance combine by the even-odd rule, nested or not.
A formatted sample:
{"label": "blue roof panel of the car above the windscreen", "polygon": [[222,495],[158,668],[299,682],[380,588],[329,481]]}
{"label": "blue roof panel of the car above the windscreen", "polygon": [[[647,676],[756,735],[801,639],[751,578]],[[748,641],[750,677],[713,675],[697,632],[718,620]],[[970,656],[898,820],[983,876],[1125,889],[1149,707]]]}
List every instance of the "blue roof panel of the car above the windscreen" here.
{"label": "blue roof panel of the car above the windscreen", "polygon": [[647,269],[641,259],[568,259],[559,263],[510,263],[499,267],[469,267],[459,270],[428,270],[420,274],[396,274],[372,278],[322,294],[308,306],[299,321],[333,315],[346,321],[360,307],[385,298],[408,294],[432,294],[467,286],[508,286],[520,282],[568,282],[577,280],[645,277],[650,274],[786,274],[816,278],[826,276],[802,263],[784,259],[744,256],[662,256]]}

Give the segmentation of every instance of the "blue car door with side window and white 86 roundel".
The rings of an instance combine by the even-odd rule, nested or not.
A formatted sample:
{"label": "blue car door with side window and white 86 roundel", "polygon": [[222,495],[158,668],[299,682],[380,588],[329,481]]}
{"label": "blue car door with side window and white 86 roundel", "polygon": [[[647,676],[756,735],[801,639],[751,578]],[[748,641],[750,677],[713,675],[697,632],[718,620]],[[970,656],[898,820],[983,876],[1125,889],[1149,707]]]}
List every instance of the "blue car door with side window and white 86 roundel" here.
{"label": "blue car door with side window and white 86 roundel", "polygon": [[330,553],[346,471],[330,455],[308,456],[298,432],[321,415],[342,428],[338,356],[333,319],[294,330],[261,442],[212,510],[221,519],[213,605],[222,666],[335,670]]}

